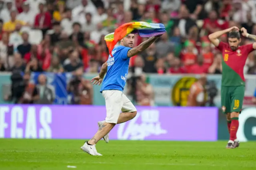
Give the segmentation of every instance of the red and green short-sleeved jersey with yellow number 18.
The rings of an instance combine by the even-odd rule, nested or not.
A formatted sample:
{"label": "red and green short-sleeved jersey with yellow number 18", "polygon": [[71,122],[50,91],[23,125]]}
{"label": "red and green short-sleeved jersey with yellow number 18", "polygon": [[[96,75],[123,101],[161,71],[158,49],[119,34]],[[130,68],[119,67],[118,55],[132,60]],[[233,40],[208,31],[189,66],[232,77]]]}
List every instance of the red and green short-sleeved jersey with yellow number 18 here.
{"label": "red and green short-sleeved jersey with yellow number 18", "polygon": [[252,44],[232,51],[227,43],[220,42],[217,48],[222,51],[222,86],[244,86],[244,65],[248,54],[254,50]]}

